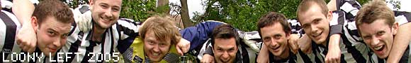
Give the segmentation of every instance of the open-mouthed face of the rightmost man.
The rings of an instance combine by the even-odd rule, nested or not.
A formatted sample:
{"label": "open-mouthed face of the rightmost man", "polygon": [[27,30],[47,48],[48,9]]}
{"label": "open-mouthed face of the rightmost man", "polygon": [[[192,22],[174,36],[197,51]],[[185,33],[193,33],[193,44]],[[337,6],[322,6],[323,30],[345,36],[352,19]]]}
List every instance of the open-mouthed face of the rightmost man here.
{"label": "open-mouthed face of the rightmost man", "polygon": [[395,28],[385,24],[385,20],[376,20],[371,24],[359,25],[361,37],[379,58],[386,58],[393,46]]}

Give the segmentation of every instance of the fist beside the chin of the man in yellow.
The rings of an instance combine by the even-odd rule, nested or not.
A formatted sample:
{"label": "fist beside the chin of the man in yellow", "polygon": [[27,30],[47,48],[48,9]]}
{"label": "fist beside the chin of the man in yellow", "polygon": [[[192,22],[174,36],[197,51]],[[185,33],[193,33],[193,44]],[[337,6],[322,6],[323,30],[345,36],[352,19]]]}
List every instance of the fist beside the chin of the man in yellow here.
{"label": "fist beside the chin of the man in yellow", "polygon": [[179,55],[184,55],[184,53],[188,52],[188,49],[190,49],[190,41],[180,38],[179,43],[176,45],[176,49],[177,52],[179,52]]}

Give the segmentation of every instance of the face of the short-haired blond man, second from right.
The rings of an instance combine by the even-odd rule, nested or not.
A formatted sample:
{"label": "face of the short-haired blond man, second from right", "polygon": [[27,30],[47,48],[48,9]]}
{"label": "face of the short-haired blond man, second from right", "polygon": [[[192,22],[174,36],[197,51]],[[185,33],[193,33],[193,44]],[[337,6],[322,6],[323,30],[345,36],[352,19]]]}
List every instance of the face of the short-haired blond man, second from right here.
{"label": "face of the short-haired blond man, second from right", "polygon": [[326,16],[321,12],[320,6],[313,5],[298,16],[305,33],[317,44],[324,44],[330,34],[331,14]]}

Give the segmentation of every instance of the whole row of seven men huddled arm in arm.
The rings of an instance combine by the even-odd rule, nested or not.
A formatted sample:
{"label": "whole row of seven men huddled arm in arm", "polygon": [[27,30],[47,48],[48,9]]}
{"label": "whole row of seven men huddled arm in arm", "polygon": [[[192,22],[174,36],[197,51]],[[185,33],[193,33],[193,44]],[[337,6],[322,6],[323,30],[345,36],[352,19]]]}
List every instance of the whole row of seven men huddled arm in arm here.
{"label": "whole row of seven men huddled arm in arm", "polygon": [[13,8],[2,8],[0,59],[22,58],[13,52],[45,57],[1,62],[176,63],[187,54],[202,63],[411,62],[411,13],[393,11],[381,0],[364,6],[303,0],[298,22],[269,12],[250,32],[218,21],[179,29],[167,15],[135,22],[119,18],[122,0],[89,0],[75,9],[57,0],[31,2],[14,0]]}

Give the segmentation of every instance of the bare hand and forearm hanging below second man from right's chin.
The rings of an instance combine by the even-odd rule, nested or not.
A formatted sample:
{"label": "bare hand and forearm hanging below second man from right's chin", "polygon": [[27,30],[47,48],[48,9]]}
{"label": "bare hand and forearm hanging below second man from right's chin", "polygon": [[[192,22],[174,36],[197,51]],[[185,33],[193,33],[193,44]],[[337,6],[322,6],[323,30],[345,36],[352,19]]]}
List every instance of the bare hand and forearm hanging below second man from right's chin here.
{"label": "bare hand and forearm hanging below second man from right's chin", "polygon": [[332,34],[330,36],[330,43],[328,43],[328,52],[325,56],[325,63],[339,63],[341,57],[341,50],[339,49],[339,34]]}

